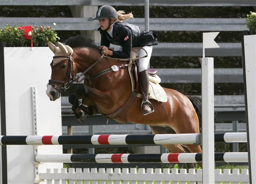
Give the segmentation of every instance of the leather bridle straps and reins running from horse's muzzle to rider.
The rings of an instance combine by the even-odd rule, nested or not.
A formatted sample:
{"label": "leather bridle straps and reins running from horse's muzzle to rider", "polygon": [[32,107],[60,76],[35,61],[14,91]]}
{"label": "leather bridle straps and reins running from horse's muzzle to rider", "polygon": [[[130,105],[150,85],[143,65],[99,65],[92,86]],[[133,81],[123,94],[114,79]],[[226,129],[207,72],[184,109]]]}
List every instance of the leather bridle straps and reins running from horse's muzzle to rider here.
{"label": "leather bridle straps and reins running from horse's muzzle to rider", "polygon": [[[71,59],[71,54],[69,56],[53,56],[53,59],[54,58],[67,58],[69,59],[69,70],[68,70],[68,74],[67,76],[65,77],[65,79],[68,77],[68,75],[70,75],[70,81],[68,82],[65,82],[65,81],[58,81],[58,80],[49,80],[49,83],[47,84],[47,87],[49,85],[51,85],[53,88],[55,88],[57,91],[59,91],[59,93],[61,93],[60,90],[64,89],[64,91],[66,89],[69,89],[70,87],[70,84],[74,83],[74,82],[81,82],[82,80],[84,80],[85,78],[87,78],[88,82],[90,83],[90,86],[91,86],[91,81],[94,80],[95,78],[105,74],[105,73],[108,73],[110,71],[118,71],[120,68],[123,68],[123,67],[127,67],[129,65],[132,65],[132,64],[135,64],[136,62],[132,62],[130,64],[123,64],[121,66],[116,66],[116,65],[113,65],[111,66],[111,68],[108,68],[108,69],[105,69],[103,71],[100,71],[99,73],[93,75],[91,78],[89,77],[89,75],[85,75],[92,67],[94,67],[98,62],[101,61],[101,59],[103,58],[103,56],[105,58],[108,58],[108,59],[113,59],[113,60],[117,60],[117,61],[132,61],[132,60],[139,60],[141,58],[144,58],[144,57],[147,57],[148,56],[148,53],[147,51],[144,49],[144,48],[140,48],[140,49],[143,49],[145,52],[146,52],[146,55],[145,56],[141,56],[141,57],[136,57],[136,58],[128,58],[128,59],[119,59],[119,58],[113,58],[113,57],[108,57],[108,56],[105,56],[104,54],[102,54],[102,56],[97,60],[95,61],[88,69],[86,69],[82,74],[78,75],[77,77],[75,77],[75,68],[74,68],[74,63],[73,63],[73,60]],[[72,68],[72,69],[71,69]],[[82,79],[81,76],[84,75],[84,77]],[[57,88],[56,85],[54,85],[53,83],[57,83],[57,84],[63,84],[63,87],[60,88],[60,90]]]}

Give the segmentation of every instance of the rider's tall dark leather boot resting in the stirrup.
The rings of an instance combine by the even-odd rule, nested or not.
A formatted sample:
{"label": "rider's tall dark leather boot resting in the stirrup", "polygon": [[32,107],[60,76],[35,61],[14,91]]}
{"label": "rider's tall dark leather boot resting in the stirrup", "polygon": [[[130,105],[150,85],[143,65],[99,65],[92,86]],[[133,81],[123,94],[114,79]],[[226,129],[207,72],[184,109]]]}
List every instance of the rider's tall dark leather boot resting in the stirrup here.
{"label": "rider's tall dark leather boot resting in the stirrup", "polygon": [[141,89],[141,112],[147,115],[154,112],[153,105],[148,101],[149,79],[148,69],[139,73],[140,76],[140,89]]}

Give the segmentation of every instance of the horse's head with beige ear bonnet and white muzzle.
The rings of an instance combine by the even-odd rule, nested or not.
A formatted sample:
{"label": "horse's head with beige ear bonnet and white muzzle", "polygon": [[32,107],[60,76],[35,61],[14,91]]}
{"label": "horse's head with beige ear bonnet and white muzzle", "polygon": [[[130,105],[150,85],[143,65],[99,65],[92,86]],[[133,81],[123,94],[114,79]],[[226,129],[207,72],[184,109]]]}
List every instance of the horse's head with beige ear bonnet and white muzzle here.
{"label": "horse's head with beige ear bonnet and white muzzle", "polygon": [[60,97],[62,89],[69,88],[69,82],[75,76],[75,66],[72,58],[73,49],[60,42],[58,42],[59,47],[51,42],[48,42],[47,45],[55,55],[51,62],[52,73],[47,84],[46,94],[51,101],[55,101]]}

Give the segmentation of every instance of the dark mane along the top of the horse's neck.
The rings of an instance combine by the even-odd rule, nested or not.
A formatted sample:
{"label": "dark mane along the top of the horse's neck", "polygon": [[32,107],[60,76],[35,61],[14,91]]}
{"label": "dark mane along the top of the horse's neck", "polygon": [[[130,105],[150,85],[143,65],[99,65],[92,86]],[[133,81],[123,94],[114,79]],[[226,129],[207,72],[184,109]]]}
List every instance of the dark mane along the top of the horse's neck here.
{"label": "dark mane along the top of the horse's neck", "polygon": [[72,36],[69,39],[65,40],[65,44],[70,46],[71,48],[76,48],[76,47],[98,48],[98,46],[94,41],[92,41],[90,38],[84,35]]}

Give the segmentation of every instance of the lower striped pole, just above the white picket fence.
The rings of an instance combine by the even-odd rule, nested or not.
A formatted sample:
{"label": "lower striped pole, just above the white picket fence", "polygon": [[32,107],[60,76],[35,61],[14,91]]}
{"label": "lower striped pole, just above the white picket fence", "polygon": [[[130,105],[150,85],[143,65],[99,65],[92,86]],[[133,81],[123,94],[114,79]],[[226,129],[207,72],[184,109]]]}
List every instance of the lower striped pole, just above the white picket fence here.
{"label": "lower striped pole, just above the white picket fence", "polygon": [[[215,153],[214,155],[213,162],[248,162],[247,152]],[[35,160],[39,163],[200,163],[202,154],[37,154]]]}

